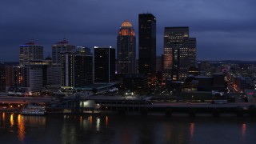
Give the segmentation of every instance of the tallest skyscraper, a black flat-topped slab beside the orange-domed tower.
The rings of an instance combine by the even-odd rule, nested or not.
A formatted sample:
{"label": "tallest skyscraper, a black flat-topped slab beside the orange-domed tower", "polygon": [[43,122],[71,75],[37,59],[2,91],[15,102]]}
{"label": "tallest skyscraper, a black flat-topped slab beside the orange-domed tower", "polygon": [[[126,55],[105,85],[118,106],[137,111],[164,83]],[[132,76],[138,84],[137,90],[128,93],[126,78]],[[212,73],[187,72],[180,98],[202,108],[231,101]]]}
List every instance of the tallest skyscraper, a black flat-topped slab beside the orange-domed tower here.
{"label": "tallest skyscraper, a black flat-topped slab beside the orange-domed tower", "polygon": [[138,73],[153,78],[156,73],[156,18],[138,14]]}

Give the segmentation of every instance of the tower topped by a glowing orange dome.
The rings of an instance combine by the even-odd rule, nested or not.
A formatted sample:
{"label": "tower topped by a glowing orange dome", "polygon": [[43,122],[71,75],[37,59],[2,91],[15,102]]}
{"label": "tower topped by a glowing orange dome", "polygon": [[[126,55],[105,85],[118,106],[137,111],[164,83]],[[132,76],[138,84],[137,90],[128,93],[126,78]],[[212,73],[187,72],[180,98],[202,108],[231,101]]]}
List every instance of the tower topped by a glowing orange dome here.
{"label": "tower topped by a glowing orange dome", "polygon": [[118,74],[136,72],[136,38],[134,28],[126,20],[118,31]]}

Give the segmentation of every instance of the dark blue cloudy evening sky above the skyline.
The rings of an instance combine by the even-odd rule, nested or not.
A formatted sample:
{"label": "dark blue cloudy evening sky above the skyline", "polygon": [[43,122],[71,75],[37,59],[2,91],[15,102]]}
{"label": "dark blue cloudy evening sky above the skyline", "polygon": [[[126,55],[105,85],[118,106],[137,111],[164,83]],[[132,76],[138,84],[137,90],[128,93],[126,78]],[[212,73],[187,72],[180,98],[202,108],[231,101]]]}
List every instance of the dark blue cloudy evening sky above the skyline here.
{"label": "dark blue cloudy evening sky above the skyline", "polygon": [[157,55],[163,51],[164,27],[189,26],[199,60],[256,60],[255,7],[255,0],[3,0],[0,61],[18,61],[19,45],[31,38],[44,46],[45,57],[64,36],[75,46],[116,47],[126,19],[138,39],[142,13],[157,18]]}

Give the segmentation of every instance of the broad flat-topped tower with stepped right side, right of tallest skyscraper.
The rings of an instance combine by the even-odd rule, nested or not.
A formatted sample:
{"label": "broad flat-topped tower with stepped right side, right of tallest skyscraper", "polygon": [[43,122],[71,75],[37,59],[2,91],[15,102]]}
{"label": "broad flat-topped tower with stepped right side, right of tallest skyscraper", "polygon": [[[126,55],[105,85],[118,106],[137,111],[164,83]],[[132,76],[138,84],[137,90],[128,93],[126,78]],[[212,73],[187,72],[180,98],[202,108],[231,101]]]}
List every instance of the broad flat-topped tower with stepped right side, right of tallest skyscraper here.
{"label": "broad flat-topped tower with stepped right side, right of tallest skyscraper", "polygon": [[196,62],[196,38],[189,38],[189,27],[166,27],[164,34],[165,79],[183,80]]}

